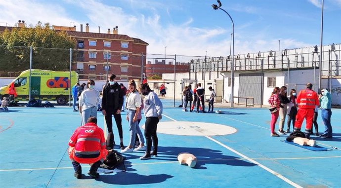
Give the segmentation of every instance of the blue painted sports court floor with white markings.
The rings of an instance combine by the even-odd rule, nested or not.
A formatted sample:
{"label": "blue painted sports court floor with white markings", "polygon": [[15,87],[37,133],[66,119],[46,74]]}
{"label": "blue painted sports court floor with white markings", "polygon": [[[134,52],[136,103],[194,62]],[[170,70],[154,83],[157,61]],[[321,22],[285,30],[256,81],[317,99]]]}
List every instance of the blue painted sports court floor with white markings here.
{"label": "blue painted sports court floor with white markings", "polygon": [[[338,188],[341,185],[341,110],[332,110],[333,140],[311,136],[325,149],[313,151],[282,142],[285,135],[270,137],[267,108],[217,108],[221,114],[189,113],[174,108],[172,100],[162,99],[162,102],[158,156],[140,160],[143,151],[125,153],[126,171],[100,174],[98,179],[86,174],[87,164],[82,164],[83,179],[74,177],[67,148],[81,116],[72,112],[72,107],[12,107],[8,113],[0,112],[0,187]],[[144,121],[142,118],[140,126]],[[122,123],[126,146],[128,121],[123,118]],[[320,117],[318,123],[322,132]],[[104,129],[100,112],[98,126]],[[113,128],[118,143],[115,123]],[[117,146],[115,149],[120,151]],[[198,159],[196,167],[180,165],[176,158],[180,152],[194,154]]]}

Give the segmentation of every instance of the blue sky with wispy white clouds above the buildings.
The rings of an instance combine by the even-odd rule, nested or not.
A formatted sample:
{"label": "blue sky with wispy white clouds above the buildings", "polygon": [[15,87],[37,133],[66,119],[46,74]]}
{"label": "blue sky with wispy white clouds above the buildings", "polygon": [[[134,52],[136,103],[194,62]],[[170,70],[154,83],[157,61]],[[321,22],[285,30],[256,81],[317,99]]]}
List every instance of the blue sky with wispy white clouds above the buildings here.
{"label": "blue sky with wispy white clouds above the buildings", "polygon": [[[234,54],[320,45],[322,0],[221,0]],[[0,25],[18,20],[140,38],[147,53],[228,56],[232,22],[216,0],[0,0]],[[280,42],[278,41],[280,40]],[[324,0],[323,45],[341,43],[341,0]]]}

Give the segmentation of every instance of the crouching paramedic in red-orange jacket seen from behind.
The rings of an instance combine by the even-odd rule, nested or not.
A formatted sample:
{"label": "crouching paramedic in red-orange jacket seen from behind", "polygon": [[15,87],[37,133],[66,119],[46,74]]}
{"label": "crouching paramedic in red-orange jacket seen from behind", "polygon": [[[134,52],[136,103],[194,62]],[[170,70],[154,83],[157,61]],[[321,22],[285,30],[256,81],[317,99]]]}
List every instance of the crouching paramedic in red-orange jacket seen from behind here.
{"label": "crouching paramedic in red-orange jacket seen from behind", "polygon": [[98,178],[97,169],[108,151],[105,149],[103,130],[97,126],[97,118],[89,117],[87,123],[78,127],[69,141],[69,157],[75,169],[75,177],[82,178],[80,163],[90,164],[87,173],[92,178]]}

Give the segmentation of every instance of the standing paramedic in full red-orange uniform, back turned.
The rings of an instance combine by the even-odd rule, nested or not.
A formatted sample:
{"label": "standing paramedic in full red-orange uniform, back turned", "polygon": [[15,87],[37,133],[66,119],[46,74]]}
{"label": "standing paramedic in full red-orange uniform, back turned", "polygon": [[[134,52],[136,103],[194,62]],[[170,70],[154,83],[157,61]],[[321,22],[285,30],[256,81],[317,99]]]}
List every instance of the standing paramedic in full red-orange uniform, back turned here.
{"label": "standing paramedic in full red-orange uniform, back turned", "polygon": [[300,131],[302,122],[305,118],[305,138],[310,138],[311,127],[314,118],[314,109],[316,105],[320,105],[317,93],[312,90],[312,83],[305,84],[305,88],[299,91],[297,96],[298,113],[296,115],[295,131]]}

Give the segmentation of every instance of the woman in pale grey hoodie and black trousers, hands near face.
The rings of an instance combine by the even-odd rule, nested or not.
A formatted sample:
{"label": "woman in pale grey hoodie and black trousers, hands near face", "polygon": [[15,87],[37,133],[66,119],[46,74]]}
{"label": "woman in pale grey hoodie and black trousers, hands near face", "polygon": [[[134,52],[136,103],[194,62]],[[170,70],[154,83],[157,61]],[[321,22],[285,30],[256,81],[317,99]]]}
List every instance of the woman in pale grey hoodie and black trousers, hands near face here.
{"label": "woman in pale grey hoodie and black trousers, hands near face", "polygon": [[[143,112],[146,117],[144,124],[144,137],[146,138],[147,149],[141,160],[150,159],[151,155],[158,155],[158,136],[156,135],[156,129],[160,119],[162,119],[163,106],[158,95],[150,89],[148,83],[140,85],[142,95],[145,96],[143,100]],[[153,151],[152,144],[154,145]]]}

